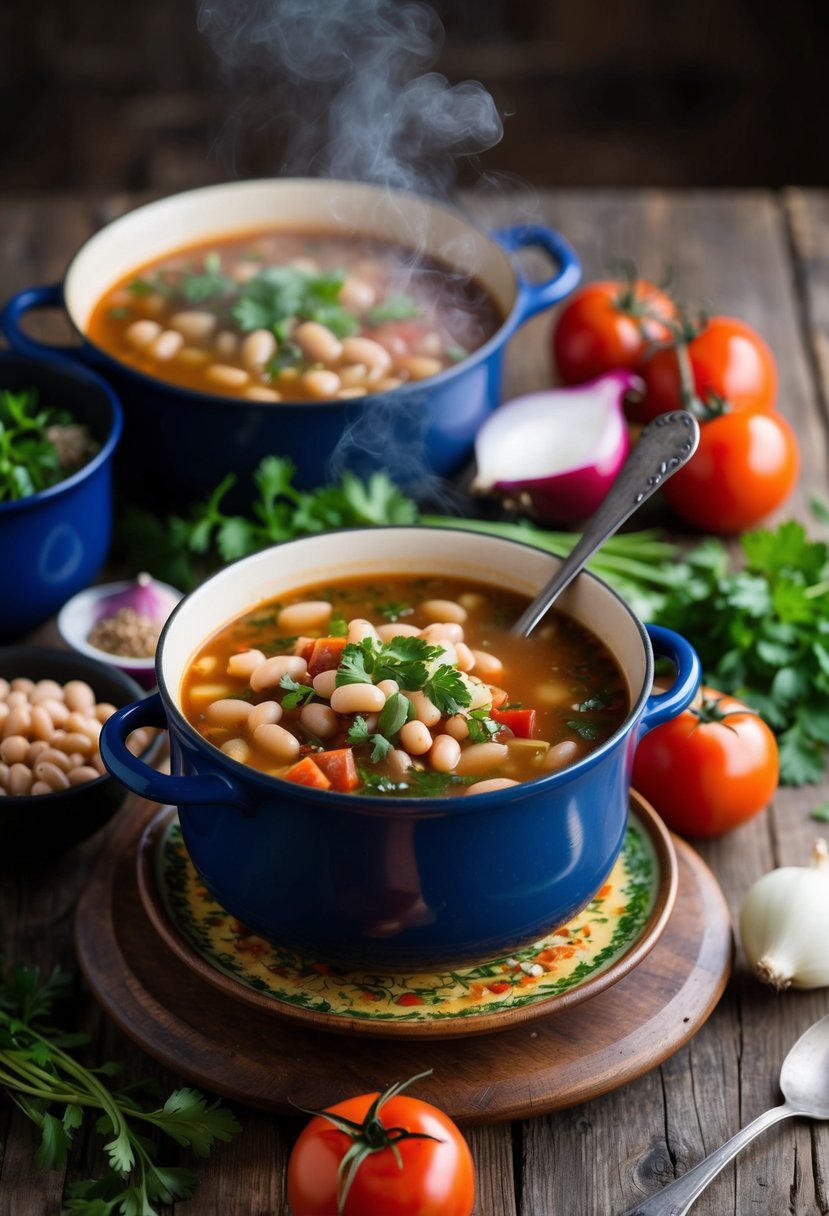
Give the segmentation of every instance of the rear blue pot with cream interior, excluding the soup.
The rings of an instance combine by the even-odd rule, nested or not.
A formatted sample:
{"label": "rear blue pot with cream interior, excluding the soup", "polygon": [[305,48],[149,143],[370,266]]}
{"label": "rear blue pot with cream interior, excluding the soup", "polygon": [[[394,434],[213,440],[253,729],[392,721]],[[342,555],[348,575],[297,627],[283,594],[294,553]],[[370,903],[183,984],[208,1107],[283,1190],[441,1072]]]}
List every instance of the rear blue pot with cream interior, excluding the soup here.
{"label": "rear blue pot with cream interior, excluding the soup", "polygon": [[[385,469],[405,488],[453,473],[470,455],[478,427],[500,402],[501,365],[515,330],[574,289],[581,268],[558,232],[521,225],[486,236],[458,213],[359,182],[322,179],[208,186],[150,203],[97,232],[75,255],[63,283],[15,295],[0,327],[19,351],[44,347],[21,328],[33,309],[66,308],[83,337],[101,295],[122,276],[182,246],[264,227],[363,232],[421,248],[473,275],[503,316],[479,350],[428,381],[350,401],[261,402],[199,393],[137,372],[88,339],[63,353],[106,373],[124,405],[123,475],[134,496],[156,502],[209,494],[230,472],[238,484],[269,452],[289,456],[297,482],[320,485],[342,469]],[[556,263],[545,282],[526,281],[511,254],[542,249]]]}

